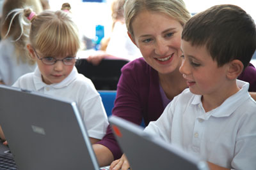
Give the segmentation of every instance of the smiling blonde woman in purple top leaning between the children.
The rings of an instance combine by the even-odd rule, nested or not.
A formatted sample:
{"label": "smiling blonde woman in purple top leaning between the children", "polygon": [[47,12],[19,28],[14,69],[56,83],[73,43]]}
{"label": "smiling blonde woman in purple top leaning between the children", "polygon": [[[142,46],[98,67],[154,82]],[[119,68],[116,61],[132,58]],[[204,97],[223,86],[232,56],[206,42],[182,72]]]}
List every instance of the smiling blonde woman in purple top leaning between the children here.
{"label": "smiling blonde woman in purple top leaning between the children", "polygon": [[[187,87],[179,73],[180,36],[182,26],[191,16],[182,0],[127,0],[124,10],[129,37],[143,58],[122,68],[113,115],[135,124],[144,120],[148,125],[157,120],[173,97]],[[249,81],[250,88],[255,88],[256,83],[248,78],[249,74],[256,78],[253,66],[246,67],[240,80]],[[122,155],[110,127],[93,148],[102,166]],[[120,165],[123,161],[126,160],[113,163]],[[121,167],[118,165],[116,167]],[[127,167],[124,163],[122,168]]]}

